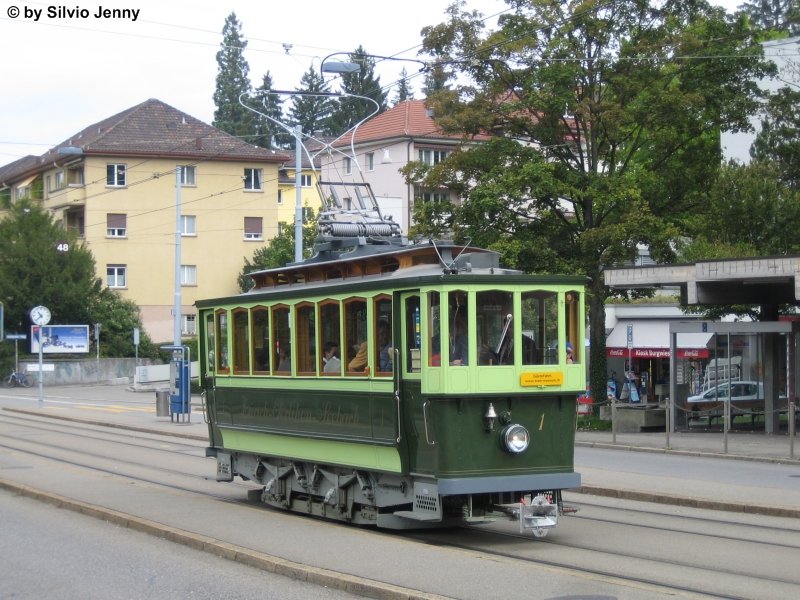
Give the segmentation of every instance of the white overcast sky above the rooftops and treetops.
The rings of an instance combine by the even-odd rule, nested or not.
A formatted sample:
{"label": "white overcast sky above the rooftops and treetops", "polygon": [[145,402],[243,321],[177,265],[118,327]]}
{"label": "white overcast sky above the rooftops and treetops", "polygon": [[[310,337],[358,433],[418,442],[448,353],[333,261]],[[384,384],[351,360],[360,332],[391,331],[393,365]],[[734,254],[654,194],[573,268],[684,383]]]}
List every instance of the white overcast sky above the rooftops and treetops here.
{"label": "white overcast sky above the rooftops and treetops", "polygon": [[[741,0],[712,0],[732,10]],[[445,20],[452,0],[71,0],[0,1],[0,165],[42,154],[84,127],[148,98],[213,121],[216,53],[234,11],[248,40],[253,86],[268,70],[293,90],[312,65],[359,45],[370,54],[413,57],[420,30]],[[99,7],[138,10],[138,18],[96,17]],[[57,9],[88,11],[81,18]],[[502,0],[467,0],[494,15]],[[12,18],[18,9],[19,16]],[[35,21],[32,11],[40,11]],[[284,44],[291,45],[288,52]],[[346,60],[345,56],[340,57]],[[381,83],[413,62],[388,62]],[[420,78],[411,81],[419,92]],[[394,93],[390,95],[390,99]],[[287,100],[288,102],[288,100]],[[286,103],[285,103],[286,105]]]}

